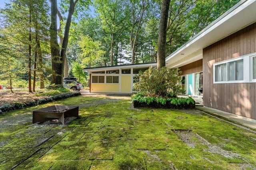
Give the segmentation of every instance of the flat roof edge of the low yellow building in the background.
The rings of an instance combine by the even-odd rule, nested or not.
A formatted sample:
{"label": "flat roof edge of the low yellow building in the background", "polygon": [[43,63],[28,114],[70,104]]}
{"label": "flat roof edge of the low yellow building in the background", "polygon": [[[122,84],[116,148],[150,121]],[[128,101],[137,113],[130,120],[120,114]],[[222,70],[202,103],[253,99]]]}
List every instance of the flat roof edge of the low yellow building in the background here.
{"label": "flat roof edge of the low yellow building in the background", "polygon": [[156,66],[157,63],[139,63],[139,64],[125,64],[125,65],[117,65],[117,66],[105,66],[105,67],[91,67],[91,68],[83,68],[82,70],[88,72],[89,74],[92,71],[101,71],[101,70],[114,70],[120,68],[143,68],[148,66]]}

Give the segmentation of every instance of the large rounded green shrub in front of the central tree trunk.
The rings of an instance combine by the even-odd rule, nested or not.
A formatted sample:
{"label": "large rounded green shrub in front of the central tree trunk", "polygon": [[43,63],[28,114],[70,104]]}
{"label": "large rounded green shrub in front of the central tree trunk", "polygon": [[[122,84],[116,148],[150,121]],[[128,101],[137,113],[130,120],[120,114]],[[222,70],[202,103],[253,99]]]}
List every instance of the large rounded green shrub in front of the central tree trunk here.
{"label": "large rounded green shrub in front of the central tree trunk", "polygon": [[176,97],[178,94],[185,93],[179,85],[180,73],[179,69],[167,67],[162,67],[160,71],[151,68],[144,73],[140,72],[137,76],[139,81],[134,84],[134,90],[142,96]]}

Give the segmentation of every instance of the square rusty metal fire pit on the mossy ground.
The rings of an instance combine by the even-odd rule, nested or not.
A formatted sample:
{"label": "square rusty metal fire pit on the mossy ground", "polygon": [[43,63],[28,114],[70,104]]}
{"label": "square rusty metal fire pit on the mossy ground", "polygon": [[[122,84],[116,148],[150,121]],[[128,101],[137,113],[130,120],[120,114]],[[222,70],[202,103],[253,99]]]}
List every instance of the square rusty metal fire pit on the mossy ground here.
{"label": "square rusty metal fire pit on the mossy ground", "polygon": [[33,123],[58,119],[64,125],[66,117],[78,117],[78,106],[49,106],[33,111]]}

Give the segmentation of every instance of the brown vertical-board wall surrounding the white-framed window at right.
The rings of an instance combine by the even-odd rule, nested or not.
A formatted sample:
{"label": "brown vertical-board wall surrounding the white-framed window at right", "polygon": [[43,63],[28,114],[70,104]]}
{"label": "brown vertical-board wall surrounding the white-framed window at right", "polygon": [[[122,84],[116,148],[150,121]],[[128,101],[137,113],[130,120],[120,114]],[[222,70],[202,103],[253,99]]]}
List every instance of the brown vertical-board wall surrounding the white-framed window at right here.
{"label": "brown vertical-board wall surrounding the white-framed window at right", "polygon": [[256,23],[203,49],[204,106],[256,119],[256,83],[214,84],[213,65],[255,52]]}

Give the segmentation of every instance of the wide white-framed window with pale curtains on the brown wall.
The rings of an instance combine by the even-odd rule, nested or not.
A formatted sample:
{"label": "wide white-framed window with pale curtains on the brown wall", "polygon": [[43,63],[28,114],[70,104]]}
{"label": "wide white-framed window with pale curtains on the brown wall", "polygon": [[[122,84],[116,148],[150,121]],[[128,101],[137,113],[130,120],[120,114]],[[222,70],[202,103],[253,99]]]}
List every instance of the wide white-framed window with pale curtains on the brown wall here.
{"label": "wide white-framed window with pale curtains on the brown wall", "polygon": [[244,59],[233,59],[214,64],[215,82],[235,82],[244,80]]}

